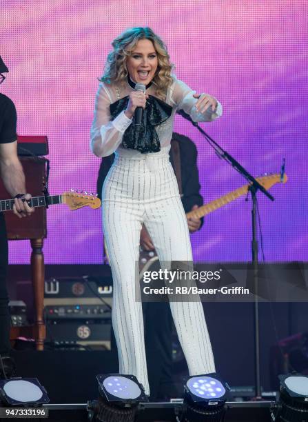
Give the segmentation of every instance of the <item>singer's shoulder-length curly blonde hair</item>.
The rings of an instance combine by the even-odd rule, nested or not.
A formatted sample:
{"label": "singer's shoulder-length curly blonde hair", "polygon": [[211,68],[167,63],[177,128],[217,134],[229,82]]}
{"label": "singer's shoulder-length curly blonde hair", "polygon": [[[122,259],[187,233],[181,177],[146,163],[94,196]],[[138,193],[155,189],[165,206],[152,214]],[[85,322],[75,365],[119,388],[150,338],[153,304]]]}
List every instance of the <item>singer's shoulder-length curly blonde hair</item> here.
{"label": "singer's shoulder-length curly blonde hair", "polygon": [[156,96],[165,100],[167,88],[172,84],[172,68],[167,48],[163,41],[151,28],[136,27],[125,30],[112,41],[114,50],[107,55],[103,76],[99,81],[106,83],[125,83],[127,78],[126,59],[132,54],[140,39],[150,39],[156,50],[158,66],[154,74],[153,83]]}

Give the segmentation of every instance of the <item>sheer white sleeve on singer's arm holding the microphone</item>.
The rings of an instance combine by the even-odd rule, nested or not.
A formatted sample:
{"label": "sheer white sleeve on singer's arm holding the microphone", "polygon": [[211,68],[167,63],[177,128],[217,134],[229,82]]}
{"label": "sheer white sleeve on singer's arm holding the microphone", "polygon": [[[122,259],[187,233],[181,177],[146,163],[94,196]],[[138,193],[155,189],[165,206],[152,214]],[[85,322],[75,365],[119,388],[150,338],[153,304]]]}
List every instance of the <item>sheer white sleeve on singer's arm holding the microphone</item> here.
{"label": "sheer white sleeve on singer's arm holding the microphone", "polygon": [[124,111],[110,121],[111,103],[110,93],[106,86],[100,83],[95,99],[90,141],[90,148],[97,157],[107,157],[112,154],[119,147],[123,133],[132,123],[132,120],[125,116]]}

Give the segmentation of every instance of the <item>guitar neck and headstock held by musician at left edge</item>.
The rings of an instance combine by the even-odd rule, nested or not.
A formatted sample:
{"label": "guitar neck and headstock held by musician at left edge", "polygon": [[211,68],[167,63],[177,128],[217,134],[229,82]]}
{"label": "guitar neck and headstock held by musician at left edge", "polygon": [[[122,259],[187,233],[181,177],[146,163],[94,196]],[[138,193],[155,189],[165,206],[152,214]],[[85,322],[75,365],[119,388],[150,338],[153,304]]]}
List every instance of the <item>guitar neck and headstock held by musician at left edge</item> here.
{"label": "guitar neck and headstock held by musician at left edge", "polygon": [[[47,204],[46,204],[47,200]],[[66,203],[71,210],[78,210],[85,206],[90,208],[99,208],[101,206],[101,200],[93,194],[88,192],[80,192],[72,190],[71,192],[65,192],[61,195],[48,195],[43,197],[33,197],[27,201],[30,207],[45,207],[46,205],[56,205],[58,203]],[[13,209],[14,199],[1,199],[0,200],[0,211],[10,211]]]}

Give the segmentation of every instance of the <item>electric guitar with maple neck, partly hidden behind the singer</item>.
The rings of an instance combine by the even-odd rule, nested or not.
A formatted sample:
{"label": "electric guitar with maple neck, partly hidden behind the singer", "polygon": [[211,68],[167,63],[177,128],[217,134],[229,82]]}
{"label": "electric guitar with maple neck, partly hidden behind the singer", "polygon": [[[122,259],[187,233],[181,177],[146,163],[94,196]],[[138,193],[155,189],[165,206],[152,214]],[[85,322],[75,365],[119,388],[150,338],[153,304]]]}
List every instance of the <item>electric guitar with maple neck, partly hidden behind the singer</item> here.
{"label": "electric guitar with maple neck, partly hidden behind the singer", "polygon": [[[283,176],[283,180],[281,180],[281,176],[278,173],[270,174],[268,176],[263,176],[263,177],[257,177],[256,180],[260,183],[260,185],[263,185],[263,187],[266,190],[269,190],[272,186],[276,185],[276,183],[286,183],[287,175],[285,174]],[[201,217],[209,214],[210,212],[218,210],[218,208],[221,208],[227,205],[227,203],[235,201],[239,197],[243,197],[243,195],[247,194],[249,186],[250,184],[244,185],[241,188],[233,190],[232,192],[229,192],[223,197],[220,197],[219,199],[215,199],[214,201],[206,203],[205,205],[201,205],[201,207],[197,208],[196,210],[187,212],[186,217],[201,219]],[[143,273],[145,271],[148,271],[152,263],[154,263],[157,260],[158,260],[158,257],[156,255],[156,252],[154,251],[147,252],[145,250],[141,250],[140,256],[139,256],[139,271],[140,271],[139,278],[140,279],[141,277],[143,277]]]}

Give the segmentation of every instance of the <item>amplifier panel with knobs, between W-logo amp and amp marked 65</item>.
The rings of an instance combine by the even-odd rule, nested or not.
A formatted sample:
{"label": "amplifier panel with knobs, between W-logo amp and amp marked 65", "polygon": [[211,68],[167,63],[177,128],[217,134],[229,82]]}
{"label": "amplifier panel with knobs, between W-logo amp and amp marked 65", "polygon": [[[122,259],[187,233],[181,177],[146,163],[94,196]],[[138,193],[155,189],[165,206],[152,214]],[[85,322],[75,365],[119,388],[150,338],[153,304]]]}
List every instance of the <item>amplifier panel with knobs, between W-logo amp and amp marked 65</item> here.
{"label": "amplifier panel with knobs, between W-logo amp and amp marked 65", "polygon": [[109,319],[111,320],[111,310],[106,305],[46,305],[45,319],[61,321],[68,319]]}

